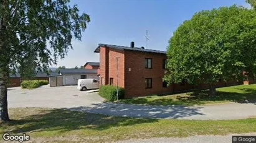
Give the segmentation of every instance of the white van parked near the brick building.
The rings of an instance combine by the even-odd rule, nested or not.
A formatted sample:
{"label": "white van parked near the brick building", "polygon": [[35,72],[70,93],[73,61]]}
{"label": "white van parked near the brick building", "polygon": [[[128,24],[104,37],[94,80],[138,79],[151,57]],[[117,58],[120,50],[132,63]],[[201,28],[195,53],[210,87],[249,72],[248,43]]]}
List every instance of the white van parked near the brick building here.
{"label": "white van parked near the brick building", "polygon": [[78,79],[77,89],[85,91],[87,89],[98,89],[99,81],[97,79]]}

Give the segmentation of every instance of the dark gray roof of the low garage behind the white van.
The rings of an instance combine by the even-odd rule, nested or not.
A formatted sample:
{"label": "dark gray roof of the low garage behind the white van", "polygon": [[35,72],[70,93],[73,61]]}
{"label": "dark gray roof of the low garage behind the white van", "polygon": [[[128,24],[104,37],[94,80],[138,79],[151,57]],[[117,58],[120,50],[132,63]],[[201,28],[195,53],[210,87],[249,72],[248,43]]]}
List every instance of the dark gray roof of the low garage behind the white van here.
{"label": "dark gray roof of the low garage behind the white van", "polygon": [[97,74],[97,69],[60,69],[60,74]]}

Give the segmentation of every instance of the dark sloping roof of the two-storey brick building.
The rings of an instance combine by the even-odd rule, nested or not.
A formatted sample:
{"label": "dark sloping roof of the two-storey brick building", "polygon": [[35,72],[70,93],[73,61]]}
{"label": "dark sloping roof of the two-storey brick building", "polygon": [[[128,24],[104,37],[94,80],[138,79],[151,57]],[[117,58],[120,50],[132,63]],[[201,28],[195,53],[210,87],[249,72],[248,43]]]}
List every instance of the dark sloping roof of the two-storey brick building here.
{"label": "dark sloping roof of the two-storey brick building", "polygon": [[166,54],[166,51],[159,51],[159,50],[150,50],[150,49],[143,49],[143,48],[138,48],[134,47],[131,48],[130,46],[117,46],[117,45],[108,45],[108,44],[98,44],[98,47],[95,49],[95,53],[100,52],[100,47],[108,47],[108,48],[113,48],[117,50],[130,50],[130,51],[142,51],[142,52],[148,52],[148,53],[159,53],[159,54]]}

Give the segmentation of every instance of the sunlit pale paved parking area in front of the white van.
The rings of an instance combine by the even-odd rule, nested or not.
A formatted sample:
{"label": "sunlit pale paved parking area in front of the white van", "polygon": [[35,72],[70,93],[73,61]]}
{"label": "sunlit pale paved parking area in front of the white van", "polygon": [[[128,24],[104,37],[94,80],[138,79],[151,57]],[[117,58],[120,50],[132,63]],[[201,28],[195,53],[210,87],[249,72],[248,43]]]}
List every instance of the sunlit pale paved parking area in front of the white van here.
{"label": "sunlit pale paved parking area in front of the white van", "polygon": [[79,91],[77,86],[49,87],[38,89],[8,88],[8,107],[48,107],[72,108],[78,106],[93,107],[104,99],[97,92]]}

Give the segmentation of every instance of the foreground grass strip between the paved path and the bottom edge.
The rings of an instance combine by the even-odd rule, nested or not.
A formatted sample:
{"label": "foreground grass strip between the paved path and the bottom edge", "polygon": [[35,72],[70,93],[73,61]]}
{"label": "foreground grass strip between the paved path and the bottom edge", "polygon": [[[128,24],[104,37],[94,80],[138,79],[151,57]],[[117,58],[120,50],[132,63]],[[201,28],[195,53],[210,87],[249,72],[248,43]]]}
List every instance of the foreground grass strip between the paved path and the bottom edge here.
{"label": "foreground grass strip between the paved path and the bottom edge", "polygon": [[[112,142],[150,137],[187,137],[256,132],[256,118],[196,121],[95,115],[49,108],[11,108],[0,134],[26,132],[36,142]],[[1,142],[1,139],[0,139]]]}

